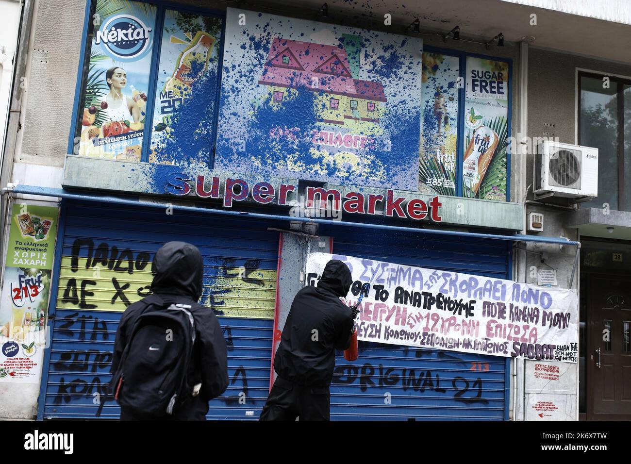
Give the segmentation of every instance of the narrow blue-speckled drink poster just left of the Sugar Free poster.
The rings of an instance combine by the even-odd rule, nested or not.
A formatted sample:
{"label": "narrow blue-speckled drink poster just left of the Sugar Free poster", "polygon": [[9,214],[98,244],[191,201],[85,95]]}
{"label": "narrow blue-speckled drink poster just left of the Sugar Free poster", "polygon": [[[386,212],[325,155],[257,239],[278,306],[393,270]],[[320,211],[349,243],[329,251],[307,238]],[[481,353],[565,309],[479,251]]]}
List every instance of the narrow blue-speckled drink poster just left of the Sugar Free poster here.
{"label": "narrow blue-speckled drink poster just left of the Sugar Free poster", "polygon": [[423,52],[418,190],[456,195],[459,57]]}

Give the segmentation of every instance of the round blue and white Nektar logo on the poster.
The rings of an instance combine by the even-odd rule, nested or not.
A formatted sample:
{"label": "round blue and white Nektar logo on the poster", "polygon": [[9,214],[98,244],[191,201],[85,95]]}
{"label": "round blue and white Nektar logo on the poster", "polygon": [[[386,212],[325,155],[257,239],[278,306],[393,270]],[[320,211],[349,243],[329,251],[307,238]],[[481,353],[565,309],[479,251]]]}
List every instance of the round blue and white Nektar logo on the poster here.
{"label": "round blue and white Nektar logo on the poster", "polygon": [[103,23],[95,43],[116,60],[135,61],[149,51],[150,32],[136,16],[117,15]]}

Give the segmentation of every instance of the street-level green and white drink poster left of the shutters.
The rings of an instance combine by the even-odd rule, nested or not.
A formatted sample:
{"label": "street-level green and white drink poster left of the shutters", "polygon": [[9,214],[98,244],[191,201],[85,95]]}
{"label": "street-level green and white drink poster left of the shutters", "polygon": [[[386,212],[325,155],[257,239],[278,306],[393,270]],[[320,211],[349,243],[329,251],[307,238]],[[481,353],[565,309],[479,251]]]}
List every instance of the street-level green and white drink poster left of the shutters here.
{"label": "street-level green and white drink poster left of the shutters", "polygon": [[56,206],[15,203],[0,294],[0,383],[38,383],[46,344]]}

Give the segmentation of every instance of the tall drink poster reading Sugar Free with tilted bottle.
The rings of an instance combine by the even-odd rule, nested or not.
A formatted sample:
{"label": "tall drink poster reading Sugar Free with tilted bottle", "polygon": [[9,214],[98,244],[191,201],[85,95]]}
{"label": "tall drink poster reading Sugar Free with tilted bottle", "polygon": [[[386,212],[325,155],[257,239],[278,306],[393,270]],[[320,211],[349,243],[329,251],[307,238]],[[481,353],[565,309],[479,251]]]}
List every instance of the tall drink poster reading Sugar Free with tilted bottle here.
{"label": "tall drink poster reading Sugar Free with tilted bottle", "polygon": [[463,196],[506,201],[510,67],[467,57]]}

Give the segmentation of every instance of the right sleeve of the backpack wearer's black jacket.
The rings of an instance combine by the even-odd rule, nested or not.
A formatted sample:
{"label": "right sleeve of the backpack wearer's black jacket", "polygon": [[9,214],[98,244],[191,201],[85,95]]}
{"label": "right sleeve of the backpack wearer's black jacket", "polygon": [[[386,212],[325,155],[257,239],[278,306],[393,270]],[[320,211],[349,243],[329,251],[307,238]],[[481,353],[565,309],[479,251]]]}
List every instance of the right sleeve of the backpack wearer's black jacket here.
{"label": "right sleeve of the backpack wearer's black jacket", "polygon": [[201,391],[204,400],[212,400],[228,388],[228,354],[226,340],[213,310],[203,307],[196,311]]}

